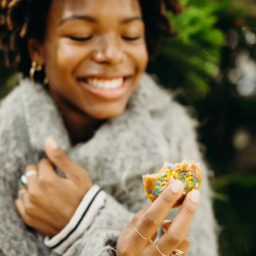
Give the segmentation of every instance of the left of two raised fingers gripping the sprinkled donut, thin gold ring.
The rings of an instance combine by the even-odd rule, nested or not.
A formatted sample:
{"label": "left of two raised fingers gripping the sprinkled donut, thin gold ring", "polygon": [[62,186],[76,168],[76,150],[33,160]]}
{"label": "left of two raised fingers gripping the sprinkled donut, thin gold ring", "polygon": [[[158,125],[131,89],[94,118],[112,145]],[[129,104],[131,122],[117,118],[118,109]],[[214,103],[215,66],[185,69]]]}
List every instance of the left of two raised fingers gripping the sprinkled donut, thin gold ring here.
{"label": "left of two raised fingers gripping the sprinkled donut, thin gold ring", "polygon": [[[145,214],[138,221],[136,227],[140,234],[148,238],[153,236],[165,219],[167,213],[181,195],[183,188],[183,183],[180,180],[176,180],[163,190],[162,194],[150,205]],[[138,247],[141,248],[146,245],[147,240],[137,234],[135,229],[134,236],[136,237],[134,243],[136,243]]]}

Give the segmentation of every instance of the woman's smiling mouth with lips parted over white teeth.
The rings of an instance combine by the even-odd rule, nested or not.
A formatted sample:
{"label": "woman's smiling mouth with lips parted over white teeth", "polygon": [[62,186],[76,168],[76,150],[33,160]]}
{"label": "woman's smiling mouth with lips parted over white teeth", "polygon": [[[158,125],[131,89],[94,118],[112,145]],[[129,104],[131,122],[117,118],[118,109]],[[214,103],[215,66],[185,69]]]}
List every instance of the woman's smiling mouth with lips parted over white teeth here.
{"label": "woman's smiling mouth with lips parted over white teeth", "polygon": [[86,77],[77,78],[79,86],[94,97],[105,100],[116,100],[121,98],[127,91],[130,77]]}

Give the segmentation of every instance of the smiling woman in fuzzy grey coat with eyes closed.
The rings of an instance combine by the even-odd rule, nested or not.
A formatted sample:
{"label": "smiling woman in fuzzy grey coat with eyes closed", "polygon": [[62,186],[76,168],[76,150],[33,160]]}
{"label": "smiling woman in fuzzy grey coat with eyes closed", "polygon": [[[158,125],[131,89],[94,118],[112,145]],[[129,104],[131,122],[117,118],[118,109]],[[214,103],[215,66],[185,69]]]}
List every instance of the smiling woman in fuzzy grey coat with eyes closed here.
{"label": "smiling woman in fuzzy grey coat with eyes closed", "polygon": [[[195,122],[143,74],[171,30],[164,7],[179,5],[1,1],[25,79],[0,108],[0,255],[217,255]],[[183,158],[202,164],[196,214],[198,190],[170,211],[180,181],[147,206],[141,175]]]}

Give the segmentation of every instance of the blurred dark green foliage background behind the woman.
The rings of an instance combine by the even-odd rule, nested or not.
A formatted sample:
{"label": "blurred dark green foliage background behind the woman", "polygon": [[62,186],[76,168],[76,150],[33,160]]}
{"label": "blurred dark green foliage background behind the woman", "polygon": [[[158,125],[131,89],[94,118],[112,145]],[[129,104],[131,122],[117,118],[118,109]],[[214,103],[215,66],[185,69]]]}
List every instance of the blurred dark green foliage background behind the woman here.
{"label": "blurred dark green foliage background behind the woman", "polygon": [[[199,141],[213,173],[221,256],[255,255],[255,3],[181,0],[170,20],[178,36],[165,39],[148,66],[199,120]],[[0,98],[18,83],[0,51]],[[2,86],[4,85],[4,86]],[[201,256],[201,255],[198,255]]]}

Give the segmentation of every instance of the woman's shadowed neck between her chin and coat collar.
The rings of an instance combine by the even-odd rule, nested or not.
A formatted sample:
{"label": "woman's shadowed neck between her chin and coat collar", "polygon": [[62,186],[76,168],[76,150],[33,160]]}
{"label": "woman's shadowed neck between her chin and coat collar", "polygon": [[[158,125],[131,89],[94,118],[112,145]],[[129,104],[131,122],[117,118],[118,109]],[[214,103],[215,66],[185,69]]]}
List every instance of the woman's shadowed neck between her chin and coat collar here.
{"label": "woman's shadowed neck between her chin and coat collar", "polygon": [[50,93],[60,110],[72,144],[76,145],[79,142],[91,139],[104,120],[88,116],[71,103],[64,102],[63,99],[56,97],[54,93]]}

